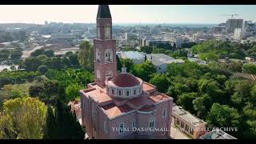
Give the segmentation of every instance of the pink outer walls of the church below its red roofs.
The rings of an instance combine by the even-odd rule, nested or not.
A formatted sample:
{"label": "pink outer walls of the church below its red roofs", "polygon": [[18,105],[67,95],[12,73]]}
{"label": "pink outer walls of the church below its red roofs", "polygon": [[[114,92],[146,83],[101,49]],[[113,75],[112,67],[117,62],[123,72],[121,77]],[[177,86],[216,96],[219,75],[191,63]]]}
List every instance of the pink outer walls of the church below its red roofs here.
{"label": "pink outer walls of the church below its red roofs", "polygon": [[[82,124],[86,126],[86,133],[90,138],[93,137],[92,127],[95,126],[96,137],[94,138],[135,138],[139,135],[144,135],[146,138],[160,138],[163,135],[163,132],[152,132],[148,131],[133,131],[132,122],[135,121],[138,128],[149,127],[150,118],[155,118],[155,127],[156,128],[165,128],[170,130],[171,123],[171,114],[172,114],[172,99],[170,101],[162,102],[155,105],[154,114],[140,114],[137,110],[133,112],[128,112],[130,114],[124,114],[118,116],[117,118],[107,118],[106,114],[103,112],[102,108],[98,106],[97,102],[94,102],[90,97],[86,97],[81,93],[81,105],[82,105]],[[94,102],[93,109],[96,110],[95,122],[92,122],[92,103]],[[85,106],[84,106],[85,105]],[[162,110],[166,108],[166,118],[162,118]],[[107,122],[107,133],[104,131],[104,121]],[[118,134],[118,130],[113,130],[113,128],[118,128],[120,123],[124,123],[126,130],[129,127],[130,131],[125,131],[123,134]],[[166,131],[165,135],[170,135],[170,131]]]}

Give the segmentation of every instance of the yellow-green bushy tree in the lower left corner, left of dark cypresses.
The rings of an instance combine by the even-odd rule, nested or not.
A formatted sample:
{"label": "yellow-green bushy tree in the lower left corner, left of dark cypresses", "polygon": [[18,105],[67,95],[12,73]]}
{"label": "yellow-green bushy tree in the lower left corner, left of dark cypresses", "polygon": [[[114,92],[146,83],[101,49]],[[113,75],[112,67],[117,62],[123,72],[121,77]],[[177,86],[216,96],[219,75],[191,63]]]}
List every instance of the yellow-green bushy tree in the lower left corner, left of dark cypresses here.
{"label": "yellow-green bushy tree in the lower left corner, left of dark cypresses", "polygon": [[[2,134],[22,139],[41,139],[46,123],[46,106],[38,98],[15,98],[4,103],[4,115],[10,122]],[[2,127],[2,126],[0,126]]]}

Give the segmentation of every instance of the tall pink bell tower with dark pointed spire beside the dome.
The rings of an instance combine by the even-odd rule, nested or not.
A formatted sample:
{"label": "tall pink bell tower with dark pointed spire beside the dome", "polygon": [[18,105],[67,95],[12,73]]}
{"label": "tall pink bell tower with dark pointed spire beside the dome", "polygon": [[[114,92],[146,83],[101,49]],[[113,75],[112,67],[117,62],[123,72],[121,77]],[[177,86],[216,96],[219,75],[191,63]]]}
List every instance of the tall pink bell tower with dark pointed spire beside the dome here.
{"label": "tall pink bell tower with dark pointed spire beside the dome", "polygon": [[116,41],[112,39],[112,18],[108,5],[99,5],[97,38],[94,38],[94,73],[98,86],[105,87],[106,78],[117,74]]}

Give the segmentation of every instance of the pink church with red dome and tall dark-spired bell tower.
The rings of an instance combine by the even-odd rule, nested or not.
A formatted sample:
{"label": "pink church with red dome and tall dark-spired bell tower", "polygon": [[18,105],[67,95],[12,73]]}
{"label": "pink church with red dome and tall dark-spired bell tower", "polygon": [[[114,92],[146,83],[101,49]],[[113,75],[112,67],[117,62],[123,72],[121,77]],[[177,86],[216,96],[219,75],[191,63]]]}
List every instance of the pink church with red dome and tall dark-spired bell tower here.
{"label": "pink church with red dome and tall dark-spired bell tower", "polygon": [[94,82],[80,90],[82,125],[90,138],[169,138],[173,98],[141,78],[117,71],[107,5],[98,6]]}

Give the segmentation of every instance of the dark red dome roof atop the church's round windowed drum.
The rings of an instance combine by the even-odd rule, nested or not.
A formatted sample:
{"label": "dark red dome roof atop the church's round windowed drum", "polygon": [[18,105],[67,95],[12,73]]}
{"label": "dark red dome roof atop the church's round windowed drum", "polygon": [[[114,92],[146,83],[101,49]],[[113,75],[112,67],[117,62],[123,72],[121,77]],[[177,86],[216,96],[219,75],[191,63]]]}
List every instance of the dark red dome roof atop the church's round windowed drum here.
{"label": "dark red dome roof atop the church's round windowed drum", "polygon": [[132,87],[140,84],[138,78],[136,78],[133,74],[118,74],[110,81],[113,82],[115,86],[118,87]]}

